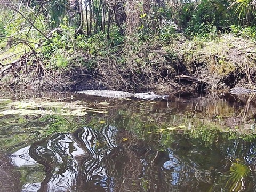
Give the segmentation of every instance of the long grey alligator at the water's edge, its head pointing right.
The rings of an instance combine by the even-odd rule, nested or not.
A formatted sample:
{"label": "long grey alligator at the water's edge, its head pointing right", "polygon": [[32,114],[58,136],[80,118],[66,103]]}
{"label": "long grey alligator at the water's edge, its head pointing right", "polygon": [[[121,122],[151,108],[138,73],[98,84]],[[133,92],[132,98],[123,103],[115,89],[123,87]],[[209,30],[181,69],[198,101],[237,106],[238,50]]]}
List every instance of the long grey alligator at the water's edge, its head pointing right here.
{"label": "long grey alligator at the water's edge, its head pointing right", "polygon": [[154,100],[154,99],[165,99],[167,100],[169,95],[156,95],[154,92],[148,93],[129,93],[124,91],[111,91],[111,90],[86,90],[86,91],[77,91],[77,93],[99,96],[99,97],[107,97],[107,98],[139,98],[146,100]]}

